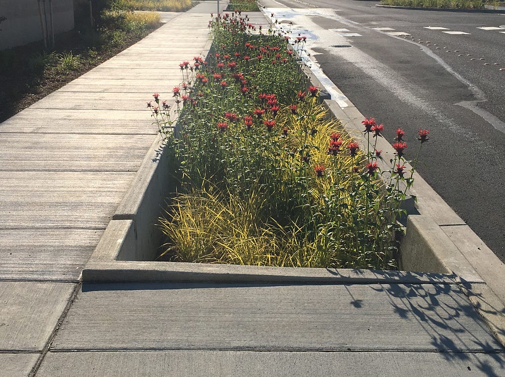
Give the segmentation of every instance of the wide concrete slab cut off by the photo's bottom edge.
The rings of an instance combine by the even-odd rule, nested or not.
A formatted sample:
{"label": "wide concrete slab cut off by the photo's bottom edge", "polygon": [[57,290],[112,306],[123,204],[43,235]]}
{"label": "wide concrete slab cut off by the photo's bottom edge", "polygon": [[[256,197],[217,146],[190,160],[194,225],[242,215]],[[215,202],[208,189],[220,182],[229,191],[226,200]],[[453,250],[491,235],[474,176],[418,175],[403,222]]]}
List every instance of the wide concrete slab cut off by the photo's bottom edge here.
{"label": "wide concrete slab cut off by the photo's bottom edge", "polygon": [[501,357],[432,352],[50,352],[37,377],[476,377],[505,374]]}

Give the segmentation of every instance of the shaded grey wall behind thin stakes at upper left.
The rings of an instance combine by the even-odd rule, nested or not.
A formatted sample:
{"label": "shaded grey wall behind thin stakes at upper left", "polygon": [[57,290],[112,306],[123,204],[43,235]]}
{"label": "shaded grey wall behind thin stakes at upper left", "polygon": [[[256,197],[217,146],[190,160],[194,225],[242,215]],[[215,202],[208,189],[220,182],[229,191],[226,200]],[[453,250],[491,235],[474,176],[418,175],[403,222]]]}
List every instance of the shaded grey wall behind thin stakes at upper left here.
{"label": "shaded grey wall behind thin stakes at upper left", "polygon": [[[7,20],[0,24],[0,50],[42,41],[42,30],[37,0],[0,0],[0,16]],[[49,0],[45,5],[49,24]],[[52,0],[55,34],[74,28],[74,0]]]}

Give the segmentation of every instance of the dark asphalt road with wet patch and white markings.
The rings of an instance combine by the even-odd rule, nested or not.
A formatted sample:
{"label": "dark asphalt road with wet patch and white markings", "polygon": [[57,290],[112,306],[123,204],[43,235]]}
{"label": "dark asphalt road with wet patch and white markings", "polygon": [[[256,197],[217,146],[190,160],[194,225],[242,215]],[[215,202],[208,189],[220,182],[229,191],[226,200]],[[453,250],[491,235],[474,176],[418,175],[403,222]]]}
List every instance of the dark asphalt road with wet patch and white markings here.
{"label": "dark asphalt road with wet patch and white markings", "polygon": [[300,26],[324,74],[389,141],[403,128],[414,154],[417,131],[430,130],[419,173],[505,262],[505,11],[265,0],[279,4],[291,10],[275,17]]}

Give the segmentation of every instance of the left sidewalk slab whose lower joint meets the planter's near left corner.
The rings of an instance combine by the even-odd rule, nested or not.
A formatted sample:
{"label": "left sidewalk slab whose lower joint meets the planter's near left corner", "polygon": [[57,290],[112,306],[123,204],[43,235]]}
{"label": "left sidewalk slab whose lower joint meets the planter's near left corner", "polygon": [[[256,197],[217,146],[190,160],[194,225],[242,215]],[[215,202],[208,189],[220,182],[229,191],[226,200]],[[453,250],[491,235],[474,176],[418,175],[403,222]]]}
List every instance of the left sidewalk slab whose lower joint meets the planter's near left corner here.
{"label": "left sidewalk slab whose lower joint meets the planter's near left corner", "polygon": [[104,231],[0,230],[0,280],[77,282]]}

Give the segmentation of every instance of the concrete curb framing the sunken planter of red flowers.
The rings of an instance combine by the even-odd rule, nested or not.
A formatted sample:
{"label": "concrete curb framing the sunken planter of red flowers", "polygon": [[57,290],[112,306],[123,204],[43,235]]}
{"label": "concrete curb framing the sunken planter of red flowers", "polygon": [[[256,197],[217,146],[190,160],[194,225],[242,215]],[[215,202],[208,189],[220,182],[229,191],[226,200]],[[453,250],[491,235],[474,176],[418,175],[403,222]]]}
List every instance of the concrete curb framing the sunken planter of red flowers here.
{"label": "concrete curb framing the sunken planter of red flowers", "polygon": [[[211,43],[209,41],[206,55]],[[311,72],[308,76],[315,78]],[[321,85],[319,80],[314,80],[312,84]],[[329,113],[341,121],[349,134],[362,146],[365,145],[366,139],[359,131],[364,116],[358,109],[350,101],[342,109],[332,100],[321,99]],[[166,169],[165,155],[162,153],[159,158],[153,158],[157,155],[159,142],[160,138],[151,145],[132,186],[86,264],[82,272],[84,283],[460,283],[467,287],[464,292],[505,345],[505,287],[501,284],[505,265],[417,174],[412,193],[417,196],[418,203],[414,207],[414,201],[411,202],[411,209],[417,212],[413,210],[411,213],[418,213],[418,216],[410,216],[407,221],[400,259],[401,267],[420,270],[423,272],[420,274],[145,261],[154,259],[159,245],[154,242],[157,237],[154,224],[170,184],[168,175],[161,173]],[[383,150],[384,160],[388,161],[394,150],[383,138],[377,142],[377,148]]]}

